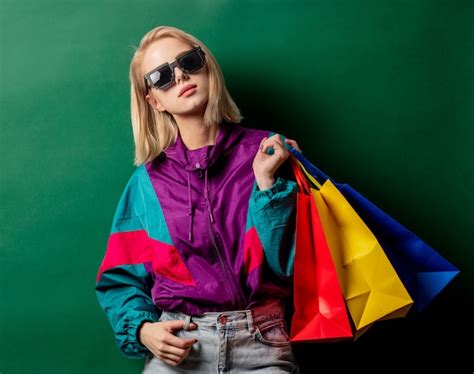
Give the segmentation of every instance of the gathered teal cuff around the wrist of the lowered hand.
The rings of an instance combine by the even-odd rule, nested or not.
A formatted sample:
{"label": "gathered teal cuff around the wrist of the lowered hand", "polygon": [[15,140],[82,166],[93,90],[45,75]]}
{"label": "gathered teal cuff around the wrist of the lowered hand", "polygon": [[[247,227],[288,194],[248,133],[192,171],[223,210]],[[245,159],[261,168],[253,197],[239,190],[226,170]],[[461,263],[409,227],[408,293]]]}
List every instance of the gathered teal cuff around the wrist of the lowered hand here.
{"label": "gathered teal cuff around the wrist of the lowered hand", "polygon": [[145,322],[158,322],[159,316],[152,312],[132,311],[121,322],[123,325],[117,331],[123,331],[117,335],[117,344],[123,354],[128,358],[144,358],[148,348],[138,341],[138,327]]}

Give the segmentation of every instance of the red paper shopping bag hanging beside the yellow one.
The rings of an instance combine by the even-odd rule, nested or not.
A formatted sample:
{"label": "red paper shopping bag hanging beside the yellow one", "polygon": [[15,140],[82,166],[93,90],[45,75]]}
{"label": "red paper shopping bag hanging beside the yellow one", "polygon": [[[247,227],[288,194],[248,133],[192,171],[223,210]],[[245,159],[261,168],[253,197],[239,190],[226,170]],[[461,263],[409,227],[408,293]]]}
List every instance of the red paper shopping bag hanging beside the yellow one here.
{"label": "red paper shopping bag hanging beside the yellow one", "polygon": [[296,160],[292,161],[299,192],[296,198],[293,277],[295,308],[290,340],[309,342],[351,338],[350,320],[316,204]]}

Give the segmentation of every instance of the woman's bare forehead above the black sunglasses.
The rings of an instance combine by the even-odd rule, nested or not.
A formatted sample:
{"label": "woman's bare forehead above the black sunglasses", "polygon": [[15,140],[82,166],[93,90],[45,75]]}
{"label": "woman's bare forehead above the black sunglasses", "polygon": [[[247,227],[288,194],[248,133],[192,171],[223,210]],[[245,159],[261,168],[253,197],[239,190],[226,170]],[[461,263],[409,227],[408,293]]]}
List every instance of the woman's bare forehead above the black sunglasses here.
{"label": "woman's bare forehead above the black sunglasses", "polygon": [[143,70],[148,72],[166,62],[173,62],[177,55],[191,48],[190,44],[179,39],[171,37],[159,39],[148,47],[143,58]]}

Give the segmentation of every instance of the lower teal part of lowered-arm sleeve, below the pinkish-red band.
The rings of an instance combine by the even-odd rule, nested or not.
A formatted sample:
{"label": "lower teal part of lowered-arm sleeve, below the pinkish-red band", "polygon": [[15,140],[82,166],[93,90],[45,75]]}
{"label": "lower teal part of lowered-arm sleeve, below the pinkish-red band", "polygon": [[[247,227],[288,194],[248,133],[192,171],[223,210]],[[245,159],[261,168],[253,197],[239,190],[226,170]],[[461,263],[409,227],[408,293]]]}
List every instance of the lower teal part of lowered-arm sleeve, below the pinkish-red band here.
{"label": "lower teal part of lowered-arm sleeve, below the pinkish-red band", "polygon": [[122,265],[108,269],[102,273],[95,290],[120,351],[128,358],[144,358],[149,351],[138,339],[138,327],[145,321],[157,322],[161,313],[150,296],[145,266]]}

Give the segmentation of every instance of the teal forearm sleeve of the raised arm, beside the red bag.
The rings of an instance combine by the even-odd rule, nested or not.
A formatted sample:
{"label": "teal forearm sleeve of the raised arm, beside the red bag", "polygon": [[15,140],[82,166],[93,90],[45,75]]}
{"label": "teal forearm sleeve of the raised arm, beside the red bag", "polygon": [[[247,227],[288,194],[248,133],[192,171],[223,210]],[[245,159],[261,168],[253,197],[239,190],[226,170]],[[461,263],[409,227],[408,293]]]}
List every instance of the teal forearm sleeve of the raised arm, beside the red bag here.
{"label": "teal forearm sleeve of the raised arm, beside the red bag", "polygon": [[249,214],[266,261],[283,279],[293,275],[297,189],[296,182],[282,177],[262,191],[255,183],[249,202]]}

